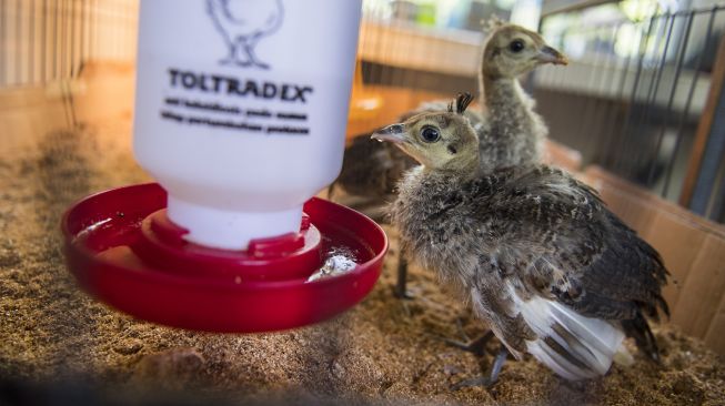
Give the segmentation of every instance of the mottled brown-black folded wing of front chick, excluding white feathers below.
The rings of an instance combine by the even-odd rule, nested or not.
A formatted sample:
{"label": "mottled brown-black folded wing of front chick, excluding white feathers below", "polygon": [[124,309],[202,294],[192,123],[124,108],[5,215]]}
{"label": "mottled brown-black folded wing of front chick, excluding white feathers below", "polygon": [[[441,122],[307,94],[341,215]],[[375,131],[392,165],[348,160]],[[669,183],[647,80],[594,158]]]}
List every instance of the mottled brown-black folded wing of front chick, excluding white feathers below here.
{"label": "mottled brown-black folded wing of front chick, excluding white feathers below", "polygon": [[492,220],[497,262],[522,288],[590,317],[667,312],[662,258],[591,187],[547,166],[518,171],[499,187],[475,215]]}

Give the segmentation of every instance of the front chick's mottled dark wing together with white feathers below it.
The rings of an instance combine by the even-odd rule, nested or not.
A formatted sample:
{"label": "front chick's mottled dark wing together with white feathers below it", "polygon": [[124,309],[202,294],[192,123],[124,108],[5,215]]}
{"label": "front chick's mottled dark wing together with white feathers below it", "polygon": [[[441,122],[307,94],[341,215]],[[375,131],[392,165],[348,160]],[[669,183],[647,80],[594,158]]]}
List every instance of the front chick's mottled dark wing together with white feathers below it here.
{"label": "front chick's mottled dark wing together with white feathers below it", "polygon": [[530,353],[571,379],[601,375],[621,351],[620,324],[633,322],[632,335],[656,352],[642,312],[666,313],[666,270],[592,189],[546,166],[506,170],[477,187],[485,197],[472,214],[490,224],[502,294],[537,337]]}

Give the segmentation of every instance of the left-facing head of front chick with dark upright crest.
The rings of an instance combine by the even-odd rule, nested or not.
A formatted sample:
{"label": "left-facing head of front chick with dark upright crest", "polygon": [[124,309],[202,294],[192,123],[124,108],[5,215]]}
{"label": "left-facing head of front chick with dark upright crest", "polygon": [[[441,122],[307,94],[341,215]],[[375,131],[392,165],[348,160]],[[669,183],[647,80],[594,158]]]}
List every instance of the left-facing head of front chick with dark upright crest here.
{"label": "left-facing head of front chick with dark upright crest", "polygon": [[394,143],[427,170],[470,171],[479,165],[479,138],[463,114],[472,100],[471,93],[461,94],[449,111],[413,115],[372,138]]}

